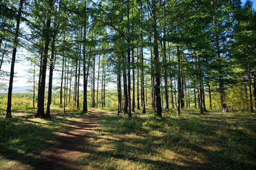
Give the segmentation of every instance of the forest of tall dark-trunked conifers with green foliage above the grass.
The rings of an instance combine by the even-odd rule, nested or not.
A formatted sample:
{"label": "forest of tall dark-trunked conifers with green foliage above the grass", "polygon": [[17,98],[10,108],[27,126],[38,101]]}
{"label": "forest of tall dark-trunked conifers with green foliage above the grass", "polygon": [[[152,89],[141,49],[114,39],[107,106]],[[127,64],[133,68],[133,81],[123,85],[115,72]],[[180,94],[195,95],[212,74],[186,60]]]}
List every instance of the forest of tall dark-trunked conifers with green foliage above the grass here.
{"label": "forest of tall dark-trunked conifers with green foliage above the grass", "polygon": [[29,53],[39,117],[50,117],[54,79],[59,107],[82,113],[88,90],[90,107],[105,105],[108,83],[117,87],[118,113],[130,118],[135,108],[146,112],[148,99],[159,117],[184,107],[253,112],[255,20],[250,1],[1,1],[1,65],[11,65],[1,70],[6,117],[19,49]]}

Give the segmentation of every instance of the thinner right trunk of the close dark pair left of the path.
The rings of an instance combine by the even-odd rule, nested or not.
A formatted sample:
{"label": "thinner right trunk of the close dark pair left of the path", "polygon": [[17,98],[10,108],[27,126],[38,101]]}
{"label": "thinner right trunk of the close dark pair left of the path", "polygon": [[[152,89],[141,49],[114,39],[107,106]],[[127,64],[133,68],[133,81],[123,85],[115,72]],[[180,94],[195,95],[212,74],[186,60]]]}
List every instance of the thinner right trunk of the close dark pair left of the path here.
{"label": "thinner right trunk of the close dark pair left of the path", "polygon": [[46,117],[51,117],[50,114],[50,106],[52,103],[52,77],[53,77],[53,67],[55,60],[55,40],[52,40],[52,50],[51,50],[51,59],[50,59],[50,68],[49,68],[49,84],[48,84],[48,101],[47,101],[47,109],[46,109]]}

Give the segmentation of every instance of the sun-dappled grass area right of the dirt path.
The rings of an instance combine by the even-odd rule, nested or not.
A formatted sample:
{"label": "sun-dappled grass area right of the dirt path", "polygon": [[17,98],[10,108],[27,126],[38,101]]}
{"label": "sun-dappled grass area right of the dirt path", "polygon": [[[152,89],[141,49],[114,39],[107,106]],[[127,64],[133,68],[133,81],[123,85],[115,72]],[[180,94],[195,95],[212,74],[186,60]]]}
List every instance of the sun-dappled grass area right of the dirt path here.
{"label": "sun-dappled grass area right of the dirt path", "polygon": [[86,148],[88,169],[255,169],[255,116],[186,110],[109,113]]}

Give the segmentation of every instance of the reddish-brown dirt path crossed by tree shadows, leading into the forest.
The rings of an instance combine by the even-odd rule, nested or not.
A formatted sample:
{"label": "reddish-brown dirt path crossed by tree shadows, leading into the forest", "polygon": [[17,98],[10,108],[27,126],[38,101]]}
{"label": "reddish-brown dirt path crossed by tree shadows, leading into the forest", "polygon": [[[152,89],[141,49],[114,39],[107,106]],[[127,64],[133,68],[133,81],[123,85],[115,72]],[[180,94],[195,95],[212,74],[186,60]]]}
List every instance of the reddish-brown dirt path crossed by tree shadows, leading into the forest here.
{"label": "reddish-brown dirt path crossed by tree shadows, leading into the forest", "polygon": [[34,165],[28,165],[28,169],[79,169],[79,161],[87,154],[84,152],[85,146],[89,145],[88,137],[92,128],[97,125],[98,117],[102,115],[100,111],[90,108],[85,119],[71,121],[70,126],[63,133],[59,133],[59,138],[53,142],[53,146],[41,153],[42,161]]}

